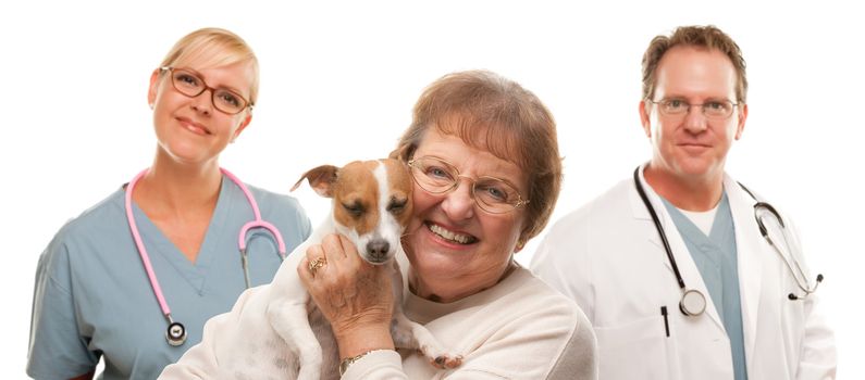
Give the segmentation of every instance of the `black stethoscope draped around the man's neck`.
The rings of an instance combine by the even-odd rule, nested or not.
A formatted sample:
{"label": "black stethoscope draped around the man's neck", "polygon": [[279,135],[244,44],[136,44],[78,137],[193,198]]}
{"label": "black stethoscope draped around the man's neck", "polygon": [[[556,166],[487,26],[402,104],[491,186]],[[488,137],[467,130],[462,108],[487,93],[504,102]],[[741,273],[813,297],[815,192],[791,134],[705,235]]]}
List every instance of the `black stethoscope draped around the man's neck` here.
{"label": "black stethoscope draped around the man's neck", "polygon": [[[672,249],[670,249],[670,243],[667,241],[667,235],[664,232],[664,227],[660,225],[660,219],[658,218],[657,213],[655,213],[655,208],[652,207],[652,204],[648,202],[648,197],[646,197],[645,190],[643,190],[643,185],[640,183],[639,166],[637,167],[637,169],[633,170],[633,183],[637,187],[637,192],[640,193],[640,199],[643,200],[643,204],[648,211],[648,214],[652,216],[652,221],[655,223],[655,229],[657,229],[658,236],[660,236],[660,242],[664,244],[664,251],[667,252],[667,258],[670,261],[670,266],[672,266],[674,274],[676,274],[676,281],[679,282],[679,289],[682,290],[682,297],[679,301],[679,311],[681,311],[682,314],[687,316],[699,316],[703,314],[703,312],[706,311],[706,296],[703,295],[703,293],[700,292],[699,290],[688,289],[684,286],[684,280],[682,279],[682,275],[679,273],[679,266],[676,265],[676,258],[672,256]],[[751,198],[753,198],[755,201],[757,200],[756,197],[754,197],[754,194],[751,193],[751,191],[747,190],[747,188],[745,188],[742,183],[739,183],[739,186],[742,187],[742,189],[745,192],[747,192],[747,194],[751,195]],[[770,204],[766,202],[758,201],[756,204],[754,204],[754,218],[757,220],[757,226],[759,227],[759,233],[763,236],[764,239],[766,239],[766,241],[769,242],[769,245],[771,245],[771,248],[775,249],[775,252],[777,252],[778,255],[781,256],[781,259],[783,261],[784,265],[787,265],[787,268],[790,270],[790,274],[793,276],[796,286],[799,287],[799,289],[801,289],[804,292],[804,294],[802,295],[790,293],[787,295],[787,297],[790,301],[804,300],[806,296],[808,296],[808,294],[817,291],[817,287],[820,284],[820,282],[823,282],[823,275],[819,274],[817,275],[817,282],[812,287],[811,283],[808,283],[805,273],[802,270],[802,267],[799,265],[799,259],[796,259],[795,256],[791,255],[790,257],[793,261],[793,265],[795,265],[795,268],[800,275],[796,276],[796,271],[793,270],[793,265],[790,265],[790,259],[787,258],[788,256],[784,255],[783,252],[781,252],[778,245],[775,244],[775,242],[771,240],[771,237],[769,237],[769,231],[766,228],[765,224],[763,223],[763,218],[766,215],[774,216],[775,219],[778,221],[778,226],[781,227],[784,244],[787,244],[787,248],[789,249],[790,242],[787,240],[787,235],[783,233],[787,227],[784,226],[783,220],[781,219],[781,215],[775,210],[775,207],[773,207]]]}

